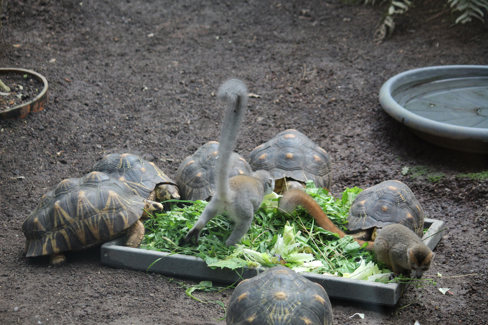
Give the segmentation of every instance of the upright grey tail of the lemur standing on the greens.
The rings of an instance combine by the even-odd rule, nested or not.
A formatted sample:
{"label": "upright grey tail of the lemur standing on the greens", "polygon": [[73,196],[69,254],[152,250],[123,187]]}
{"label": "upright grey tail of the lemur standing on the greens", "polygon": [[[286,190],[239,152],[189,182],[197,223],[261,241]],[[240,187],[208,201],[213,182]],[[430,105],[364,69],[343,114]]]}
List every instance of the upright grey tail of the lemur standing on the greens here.
{"label": "upright grey tail of the lemur standing on the greens", "polygon": [[227,102],[227,108],[220,135],[219,157],[215,169],[216,195],[230,193],[228,170],[230,155],[236,147],[237,135],[247,107],[247,87],[242,80],[230,79],[219,89],[219,98]]}

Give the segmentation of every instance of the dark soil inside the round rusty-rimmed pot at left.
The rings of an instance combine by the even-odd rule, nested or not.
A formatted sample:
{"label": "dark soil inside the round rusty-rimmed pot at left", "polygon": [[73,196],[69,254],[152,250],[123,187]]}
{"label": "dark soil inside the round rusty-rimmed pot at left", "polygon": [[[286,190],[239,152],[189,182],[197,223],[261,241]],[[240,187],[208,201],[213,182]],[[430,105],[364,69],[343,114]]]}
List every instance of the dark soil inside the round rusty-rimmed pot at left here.
{"label": "dark soil inside the round rusty-rimmed pot at left", "polygon": [[0,74],[0,79],[10,87],[9,95],[0,96],[0,112],[33,100],[44,87],[41,82],[29,75],[9,72]]}

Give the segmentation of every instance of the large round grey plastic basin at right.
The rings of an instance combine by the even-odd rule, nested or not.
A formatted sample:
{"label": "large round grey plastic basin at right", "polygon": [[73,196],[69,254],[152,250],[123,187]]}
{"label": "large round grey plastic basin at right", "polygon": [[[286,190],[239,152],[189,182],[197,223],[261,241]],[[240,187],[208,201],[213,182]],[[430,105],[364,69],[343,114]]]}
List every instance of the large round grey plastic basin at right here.
{"label": "large round grey plastic basin at right", "polygon": [[488,66],[443,65],[405,71],[380,90],[383,109],[421,138],[488,153]]}

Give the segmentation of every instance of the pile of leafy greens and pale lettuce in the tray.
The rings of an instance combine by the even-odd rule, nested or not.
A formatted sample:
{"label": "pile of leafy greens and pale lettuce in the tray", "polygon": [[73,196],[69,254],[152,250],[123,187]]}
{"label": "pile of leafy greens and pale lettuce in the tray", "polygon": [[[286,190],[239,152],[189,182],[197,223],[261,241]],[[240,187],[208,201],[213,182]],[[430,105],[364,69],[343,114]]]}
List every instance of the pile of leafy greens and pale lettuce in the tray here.
{"label": "pile of leafy greens and pale lettuce in the tray", "polygon": [[[306,186],[306,192],[314,197],[332,222],[343,228],[352,201],[361,191],[357,187],[346,189],[336,199],[325,189],[316,188],[311,181]],[[177,203],[191,205],[179,207]],[[206,204],[204,201],[171,201],[169,211],[156,214],[145,223],[149,231],[141,248],[197,256],[211,268],[281,264],[297,272],[328,273],[362,280],[372,276],[370,281],[388,281],[387,275],[382,273],[389,270],[378,268],[373,263],[372,253],[360,250],[351,236],[340,238],[336,233],[317,227],[315,220],[301,208],[293,215],[278,209],[278,195],[264,200],[254,224],[237,247],[224,245],[233,227],[222,216],[210,220],[198,244],[185,242],[184,236]]]}

